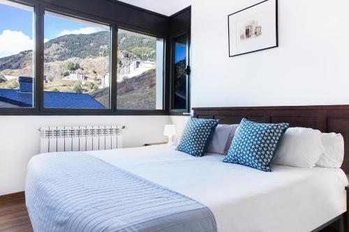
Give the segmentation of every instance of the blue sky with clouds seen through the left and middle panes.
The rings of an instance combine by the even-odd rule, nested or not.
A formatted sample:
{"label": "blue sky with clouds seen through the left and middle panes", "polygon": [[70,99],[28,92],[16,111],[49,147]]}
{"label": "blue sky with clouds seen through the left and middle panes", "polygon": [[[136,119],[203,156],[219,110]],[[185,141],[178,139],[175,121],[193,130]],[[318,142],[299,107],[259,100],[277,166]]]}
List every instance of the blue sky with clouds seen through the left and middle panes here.
{"label": "blue sky with clouds seen through the left and middle panes", "polygon": [[[33,48],[33,12],[0,3],[0,58]],[[95,24],[45,15],[45,42],[67,34],[103,31]]]}

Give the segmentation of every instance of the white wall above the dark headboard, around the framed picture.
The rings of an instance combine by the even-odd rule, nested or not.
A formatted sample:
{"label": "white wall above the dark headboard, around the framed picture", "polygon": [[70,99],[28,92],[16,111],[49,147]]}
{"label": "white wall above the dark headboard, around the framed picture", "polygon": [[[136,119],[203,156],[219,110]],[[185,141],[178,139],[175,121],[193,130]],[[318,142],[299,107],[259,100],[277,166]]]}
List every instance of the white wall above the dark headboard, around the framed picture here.
{"label": "white wall above the dark headboard, around the framed picture", "polygon": [[228,57],[228,19],[260,0],[193,0],[192,107],[349,104],[349,1],[279,0],[279,48]]}

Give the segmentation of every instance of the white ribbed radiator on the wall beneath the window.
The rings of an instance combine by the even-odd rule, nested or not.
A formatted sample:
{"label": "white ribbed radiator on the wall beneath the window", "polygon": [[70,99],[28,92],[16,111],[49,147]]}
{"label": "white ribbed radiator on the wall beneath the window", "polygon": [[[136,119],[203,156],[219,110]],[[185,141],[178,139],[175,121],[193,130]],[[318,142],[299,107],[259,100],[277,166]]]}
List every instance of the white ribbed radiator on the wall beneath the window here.
{"label": "white ribbed radiator on the wall beneath the window", "polygon": [[122,148],[122,125],[41,127],[40,153]]}

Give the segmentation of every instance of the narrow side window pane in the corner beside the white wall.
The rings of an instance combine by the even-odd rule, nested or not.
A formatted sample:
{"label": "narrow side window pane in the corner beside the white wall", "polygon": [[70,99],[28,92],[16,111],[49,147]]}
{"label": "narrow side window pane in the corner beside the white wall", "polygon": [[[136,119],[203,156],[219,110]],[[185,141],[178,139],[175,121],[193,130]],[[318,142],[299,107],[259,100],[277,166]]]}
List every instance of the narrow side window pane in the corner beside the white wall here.
{"label": "narrow side window pane in the corner beside the white wall", "polygon": [[172,111],[188,111],[188,34],[174,38],[172,81]]}

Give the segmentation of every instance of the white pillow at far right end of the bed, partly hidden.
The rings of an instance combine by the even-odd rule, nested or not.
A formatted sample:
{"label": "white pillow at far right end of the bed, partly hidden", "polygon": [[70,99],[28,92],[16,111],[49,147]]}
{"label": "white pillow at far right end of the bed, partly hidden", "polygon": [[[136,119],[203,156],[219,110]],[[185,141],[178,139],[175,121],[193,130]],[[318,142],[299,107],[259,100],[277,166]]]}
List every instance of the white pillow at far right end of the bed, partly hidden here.
{"label": "white pillow at far right end of the bed, partly hidden", "polygon": [[344,160],[344,139],[341,134],[322,133],[322,145],[325,151],[316,162],[318,167],[340,168]]}

